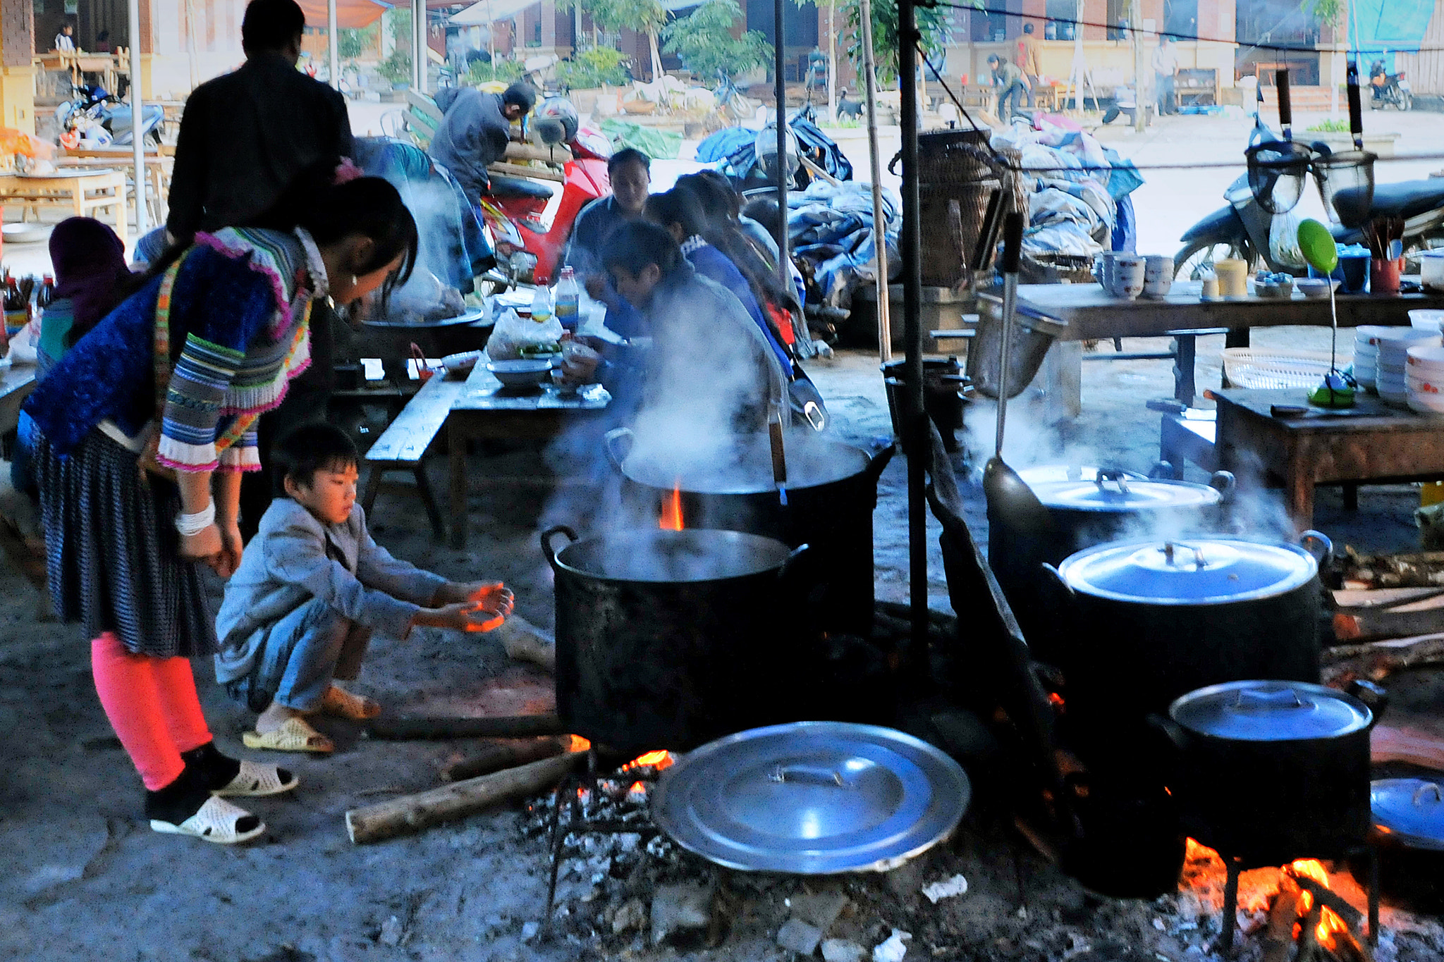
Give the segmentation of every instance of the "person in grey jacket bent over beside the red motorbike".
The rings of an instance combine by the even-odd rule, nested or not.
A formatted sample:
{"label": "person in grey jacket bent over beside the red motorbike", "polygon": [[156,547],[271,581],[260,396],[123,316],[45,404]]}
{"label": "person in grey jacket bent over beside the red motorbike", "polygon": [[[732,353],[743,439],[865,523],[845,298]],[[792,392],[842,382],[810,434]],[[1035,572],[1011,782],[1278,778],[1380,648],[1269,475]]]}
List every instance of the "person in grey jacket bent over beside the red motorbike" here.
{"label": "person in grey jacket bent over beside the red motorbike", "polygon": [[456,177],[472,206],[491,187],[487,166],[505,156],[513,121],[530,114],[536,102],[537,92],[524,81],[517,81],[501,94],[465,88],[449,102],[438,97],[438,107],[446,115],[436,125],[427,153]]}

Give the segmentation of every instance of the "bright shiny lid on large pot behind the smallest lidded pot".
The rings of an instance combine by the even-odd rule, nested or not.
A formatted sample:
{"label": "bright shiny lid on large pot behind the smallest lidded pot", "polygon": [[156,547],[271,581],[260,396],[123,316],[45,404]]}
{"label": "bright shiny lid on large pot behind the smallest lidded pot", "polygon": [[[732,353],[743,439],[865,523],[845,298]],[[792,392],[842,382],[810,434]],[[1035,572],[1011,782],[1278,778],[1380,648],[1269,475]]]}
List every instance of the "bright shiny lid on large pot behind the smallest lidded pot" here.
{"label": "bright shiny lid on large pot behind the smallest lidded pot", "polygon": [[1292,591],[1317,571],[1302,548],[1232,538],[1109,542],[1058,565],[1074,591],[1142,604],[1252,601]]}

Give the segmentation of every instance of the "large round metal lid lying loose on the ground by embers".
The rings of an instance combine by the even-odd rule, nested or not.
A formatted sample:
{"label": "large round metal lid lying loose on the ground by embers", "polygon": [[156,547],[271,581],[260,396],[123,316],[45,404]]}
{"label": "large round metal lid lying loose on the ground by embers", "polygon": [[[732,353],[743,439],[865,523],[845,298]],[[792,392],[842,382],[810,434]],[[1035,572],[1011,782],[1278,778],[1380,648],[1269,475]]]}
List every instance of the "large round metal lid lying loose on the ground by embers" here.
{"label": "large round metal lid lying loose on the ground by embers", "polygon": [[728,868],[888,871],[947,838],[967,811],[963,769],[892,728],[799,721],[708,743],[667,769],[651,813]]}

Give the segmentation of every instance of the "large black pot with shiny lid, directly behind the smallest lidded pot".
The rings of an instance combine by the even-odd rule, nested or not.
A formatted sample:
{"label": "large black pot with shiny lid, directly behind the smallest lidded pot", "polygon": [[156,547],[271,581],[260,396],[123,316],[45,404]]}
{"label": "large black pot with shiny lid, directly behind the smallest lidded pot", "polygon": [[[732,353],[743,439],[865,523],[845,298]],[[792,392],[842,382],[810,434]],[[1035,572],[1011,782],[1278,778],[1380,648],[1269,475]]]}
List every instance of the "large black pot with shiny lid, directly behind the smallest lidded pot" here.
{"label": "large black pot with shiny lid, directly behind the smallest lidded pot", "polygon": [[[1330,550],[1318,532],[1304,538]],[[1136,728],[1180,695],[1220,682],[1318,681],[1323,588],[1318,561],[1301,547],[1125,541],[1044,571],[1066,597],[1058,663],[1069,715],[1083,728]]]}

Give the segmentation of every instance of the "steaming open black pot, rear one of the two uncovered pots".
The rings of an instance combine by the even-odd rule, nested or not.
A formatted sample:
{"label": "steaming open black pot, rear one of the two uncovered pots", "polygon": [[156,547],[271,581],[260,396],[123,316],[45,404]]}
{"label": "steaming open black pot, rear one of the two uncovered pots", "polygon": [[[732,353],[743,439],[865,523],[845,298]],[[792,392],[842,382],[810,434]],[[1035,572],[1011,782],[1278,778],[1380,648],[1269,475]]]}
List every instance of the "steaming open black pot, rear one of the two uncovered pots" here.
{"label": "steaming open black pot, rear one of the two uncovered pots", "polygon": [[892,447],[869,457],[851,444],[790,433],[784,506],[765,434],[726,438],[702,454],[661,444],[643,449],[634,440],[627,428],[609,431],[606,453],[634,490],[653,499],[656,511],[644,511],[645,516],[660,516],[673,492],[680,492],[689,528],[812,545],[819,597],[810,607],[817,627],[861,637],[872,633],[872,509]]}

